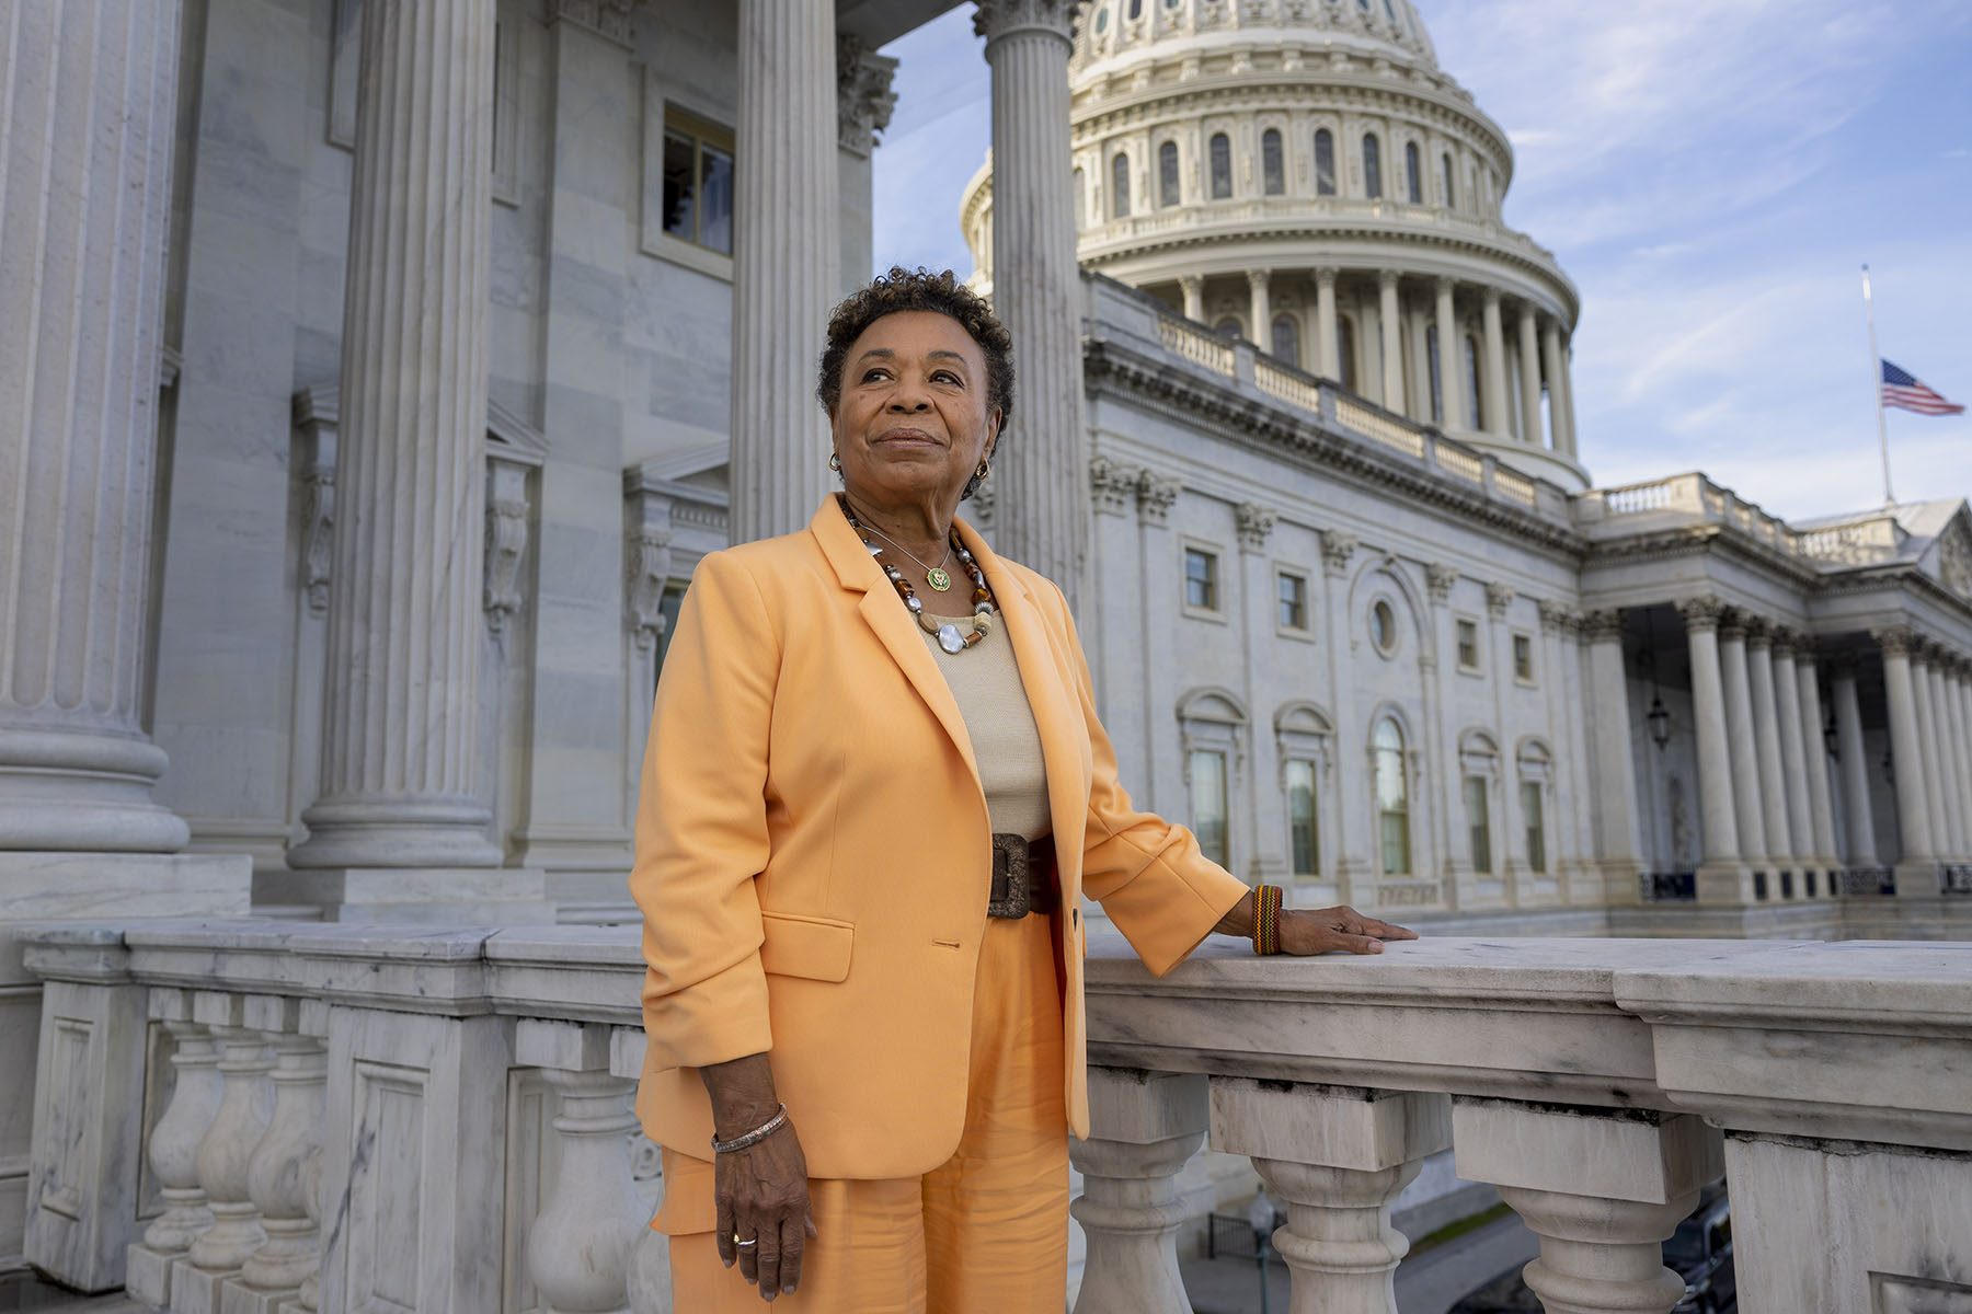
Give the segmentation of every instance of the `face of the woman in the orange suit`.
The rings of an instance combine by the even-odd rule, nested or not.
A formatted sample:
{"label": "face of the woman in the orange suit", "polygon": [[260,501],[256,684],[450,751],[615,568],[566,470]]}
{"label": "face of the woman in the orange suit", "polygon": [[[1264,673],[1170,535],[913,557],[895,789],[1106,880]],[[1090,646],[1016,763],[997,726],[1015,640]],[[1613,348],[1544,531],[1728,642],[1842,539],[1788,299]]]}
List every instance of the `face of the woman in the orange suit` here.
{"label": "face of the woman in the orange suit", "polygon": [[1000,433],[986,353],[951,315],[883,315],[850,343],[830,424],[852,502],[951,516]]}

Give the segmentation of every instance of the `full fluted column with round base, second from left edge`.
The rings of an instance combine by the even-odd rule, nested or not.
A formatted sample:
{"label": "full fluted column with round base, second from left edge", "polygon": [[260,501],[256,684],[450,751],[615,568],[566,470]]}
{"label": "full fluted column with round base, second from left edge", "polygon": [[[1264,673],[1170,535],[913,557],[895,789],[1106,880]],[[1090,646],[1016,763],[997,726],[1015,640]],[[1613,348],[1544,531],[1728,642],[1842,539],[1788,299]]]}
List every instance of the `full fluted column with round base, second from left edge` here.
{"label": "full fluted column with round base, second from left edge", "polygon": [[473,751],[493,0],[367,4],[361,59],[321,794],[288,861],[497,867]]}

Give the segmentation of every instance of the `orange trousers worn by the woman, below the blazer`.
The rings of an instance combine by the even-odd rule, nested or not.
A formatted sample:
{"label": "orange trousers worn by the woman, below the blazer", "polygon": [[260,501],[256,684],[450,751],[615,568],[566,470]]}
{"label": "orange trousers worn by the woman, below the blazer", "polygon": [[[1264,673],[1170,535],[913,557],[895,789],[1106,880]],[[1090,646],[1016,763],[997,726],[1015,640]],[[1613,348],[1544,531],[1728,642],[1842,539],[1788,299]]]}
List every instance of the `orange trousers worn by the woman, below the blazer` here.
{"label": "orange trousers worn by the woman, below the blazer", "polygon": [[[966,1127],[921,1178],[809,1180],[816,1237],[773,1314],[1061,1314],[1069,1137],[1061,991],[1041,914],[986,918],[972,1001]],[[789,1109],[795,1127],[801,1111]],[[674,1192],[684,1192],[676,1196]],[[665,1214],[712,1215],[712,1164],[665,1150]],[[678,1206],[678,1208],[674,1208]],[[657,1225],[657,1223],[653,1223]],[[676,1314],[757,1314],[710,1231],[670,1237]]]}

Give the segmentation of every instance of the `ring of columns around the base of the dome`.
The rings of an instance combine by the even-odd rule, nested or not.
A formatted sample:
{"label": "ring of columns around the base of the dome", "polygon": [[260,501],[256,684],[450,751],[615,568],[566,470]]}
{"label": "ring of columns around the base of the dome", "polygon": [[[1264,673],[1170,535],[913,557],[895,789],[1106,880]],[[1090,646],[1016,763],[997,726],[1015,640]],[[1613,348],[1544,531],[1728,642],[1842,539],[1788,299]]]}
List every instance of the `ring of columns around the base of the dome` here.
{"label": "ring of columns around the base of the dome", "polygon": [[[1000,213],[998,207],[994,213]],[[1365,282],[1369,272],[1333,266],[1248,268],[1242,274],[1246,303],[1232,319],[1244,323],[1248,339],[1288,364],[1335,378],[1420,424],[1576,457],[1568,325],[1540,303],[1491,284],[1400,270],[1374,270],[1374,282]],[[1213,321],[1205,276],[1185,274],[1177,290],[1187,319]],[[1311,315],[1292,309],[1290,301],[1311,303]],[[1292,343],[1274,331],[1284,317],[1294,325]],[[1351,325],[1349,361],[1343,361],[1345,325]],[[1467,337],[1475,345],[1477,370],[1467,368]],[[1436,370],[1434,341],[1440,345]],[[1479,382],[1477,416],[1473,374]],[[1546,420],[1542,394],[1548,398]]]}

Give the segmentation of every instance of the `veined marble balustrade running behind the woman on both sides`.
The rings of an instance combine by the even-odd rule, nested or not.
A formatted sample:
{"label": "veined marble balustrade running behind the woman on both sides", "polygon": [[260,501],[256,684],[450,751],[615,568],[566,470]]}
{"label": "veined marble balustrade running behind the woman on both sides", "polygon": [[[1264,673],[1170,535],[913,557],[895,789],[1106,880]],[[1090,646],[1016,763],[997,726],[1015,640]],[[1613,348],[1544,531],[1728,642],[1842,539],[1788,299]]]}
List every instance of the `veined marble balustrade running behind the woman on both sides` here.
{"label": "veined marble balustrade running behind the woman on both sides", "polygon": [[[669,1310],[635,926],[24,942],[34,1200],[120,1243],[110,1284],[201,1314]],[[1079,1314],[1191,1308],[1205,1147],[1286,1202],[1298,1312],[1394,1312],[1390,1206],[1445,1149],[1538,1233],[1550,1314],[1668,1312],[1660,1243],[1722,1174],[1745,1314],[1972,1298],[1972,944],[1227,942],[1160,981],[1098,932],[1087,975]]]}

